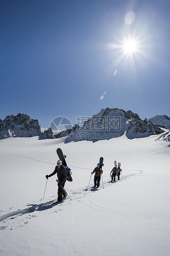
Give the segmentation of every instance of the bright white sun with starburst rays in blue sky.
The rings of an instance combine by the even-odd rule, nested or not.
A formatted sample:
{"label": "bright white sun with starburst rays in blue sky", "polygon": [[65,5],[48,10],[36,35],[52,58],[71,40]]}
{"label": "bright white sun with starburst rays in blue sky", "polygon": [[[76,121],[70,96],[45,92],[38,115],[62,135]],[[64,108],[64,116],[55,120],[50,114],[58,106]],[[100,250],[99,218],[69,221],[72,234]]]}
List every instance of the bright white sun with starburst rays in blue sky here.
{"label": "bright white sun with starburst rays in blue sky", "polygon": [[[114,34],[114,42],[108,43],[107,48],[112,50],[112,67],[115,71],[120,63],[135,70],[137,62],[144,62],[146,58],[151,58],[150,38],[152,35],[139,27],[138,24],[133,27],[120,28],[117,26],[118,33]],[[113,73],[115,76],[115,74]]]}

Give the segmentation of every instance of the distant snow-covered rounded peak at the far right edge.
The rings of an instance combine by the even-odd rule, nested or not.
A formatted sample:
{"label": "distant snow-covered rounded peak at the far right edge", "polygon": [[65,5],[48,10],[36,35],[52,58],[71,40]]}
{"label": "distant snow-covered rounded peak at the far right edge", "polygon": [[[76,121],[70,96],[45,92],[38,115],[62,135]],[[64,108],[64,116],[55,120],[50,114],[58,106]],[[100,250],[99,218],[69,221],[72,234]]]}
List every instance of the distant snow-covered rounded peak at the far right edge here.
{"label": "distant snow-covered rounded peak at the far right edge", "polygon": [[149,119],[145,119],[149,123],[158,125],[159,127],[170,130],[170,118],[166,115],[156,115]]}

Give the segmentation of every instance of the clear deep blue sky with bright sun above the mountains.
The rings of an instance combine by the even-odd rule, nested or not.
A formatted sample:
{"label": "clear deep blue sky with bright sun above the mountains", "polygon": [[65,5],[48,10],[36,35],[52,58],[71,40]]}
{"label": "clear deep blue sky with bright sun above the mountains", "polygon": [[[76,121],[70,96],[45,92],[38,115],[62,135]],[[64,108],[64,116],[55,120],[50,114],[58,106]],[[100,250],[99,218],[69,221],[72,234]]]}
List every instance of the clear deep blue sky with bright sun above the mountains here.
{"label": "clear deep blue sky with bright sun above the mountains", "polygon": [[170,116],[169,12],[169,0],[0,1],[0,119]]}

